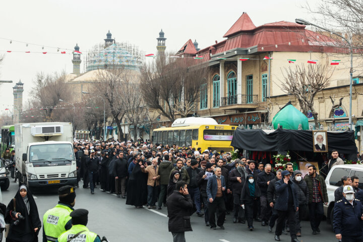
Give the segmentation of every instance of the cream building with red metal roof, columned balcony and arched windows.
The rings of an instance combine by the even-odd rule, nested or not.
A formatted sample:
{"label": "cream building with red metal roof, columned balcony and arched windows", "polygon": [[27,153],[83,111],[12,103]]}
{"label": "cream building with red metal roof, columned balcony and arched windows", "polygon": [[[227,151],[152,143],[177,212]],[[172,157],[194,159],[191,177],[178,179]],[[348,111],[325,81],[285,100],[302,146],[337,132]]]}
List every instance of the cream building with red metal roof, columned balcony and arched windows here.
{"label": "cream building with red metal roof, columned balcony and arched windows", "polygon": [[[331,66],[330,71],[334,72],[330,86],[315,101],[319,122],[326,126],[332,124],[329,96],[334,93],[338,99],[346,96],[341,109],[348,113],[349,50],[338,48],[336,38],[287,21],[256,27],[247,13],[243,13],[223,37],[226,39],[200,50],[189,39],[176,53],[180,57],[203,57],[196,59],[196,63],[205,62],[210,69],[208,82],[201,87],[196,115],[214,117],[220,124],[252,127],[270,123],[279,107],[289,100],[299,108],[295,97],[281,90],[282,70],[301,64],[314,65],[307,63],[311,59],[329,67],[333,59],[341,60],[338,66]],[[289,63],[289,59],[293,61]],[[363,75],[357,69],[354,75],[357,84],[354,85],[363,91],[363,85],[359,85],[363,81],[359,76]],[[359,95],[352,113],[363,118],[362,103],[363,96]],[[347,123],[347,116],[339,121],[342,125]]]}

